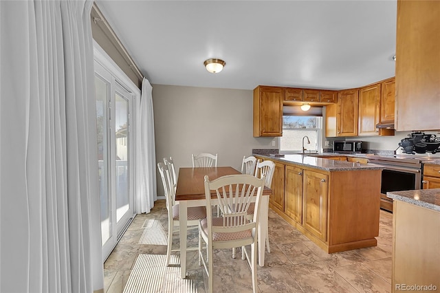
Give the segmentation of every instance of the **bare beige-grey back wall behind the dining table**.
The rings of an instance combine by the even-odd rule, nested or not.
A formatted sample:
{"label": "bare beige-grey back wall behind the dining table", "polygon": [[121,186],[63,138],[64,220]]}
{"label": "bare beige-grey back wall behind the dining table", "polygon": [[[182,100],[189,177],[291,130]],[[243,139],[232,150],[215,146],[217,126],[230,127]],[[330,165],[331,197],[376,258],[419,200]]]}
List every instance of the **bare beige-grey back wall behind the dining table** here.
{"label": "bare beige-grey back wall behind the dining table", "polygon": [[[252,103],[252,90],[153,85],[157,162],[172,156],[178,172],[192,166],[192,153],[218,153],[219,166],[240,170],[252,149],[277,148],[273,138],[252,136]],[[164,195],[159,173],[157,195]]]}

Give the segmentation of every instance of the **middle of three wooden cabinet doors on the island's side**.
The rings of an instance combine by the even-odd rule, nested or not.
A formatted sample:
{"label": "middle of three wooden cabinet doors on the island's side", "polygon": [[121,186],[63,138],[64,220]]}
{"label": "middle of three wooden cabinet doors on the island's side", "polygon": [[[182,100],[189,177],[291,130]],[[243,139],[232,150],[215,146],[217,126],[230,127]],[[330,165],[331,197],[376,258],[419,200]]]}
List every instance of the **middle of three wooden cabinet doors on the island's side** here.
{"label": "middle of three wooden cabinet doors on the island's side", "polygon": [[303,169],[286,166],[284,213],[303,224]]}

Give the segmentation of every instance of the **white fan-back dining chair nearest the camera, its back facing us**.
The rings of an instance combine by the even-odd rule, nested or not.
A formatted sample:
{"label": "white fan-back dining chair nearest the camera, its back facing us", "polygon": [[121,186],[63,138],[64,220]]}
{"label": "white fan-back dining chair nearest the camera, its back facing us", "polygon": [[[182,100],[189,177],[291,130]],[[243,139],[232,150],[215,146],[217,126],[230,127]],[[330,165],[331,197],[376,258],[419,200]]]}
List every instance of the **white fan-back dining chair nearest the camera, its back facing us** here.
{"label": "white fan-back dining chair nearest the camera, its back facing us", "polygon": [[[264,183],[263,178],[247,174],[225,175],[212,181],[205,176],[206,210],[212,210],[211,191],[215,191],[221,208],[221,217],[213,217],[211,212],[207,214],[206,219],[199,221],[199,265],[203,263],[208,274],[208,292],[213,290],[212,250],[239,246],[243,248],[243,259],[248,259],[252,289],[256,292],[256,242]],[[248,219],[252,197],[256,197],[254,214],[252,219]],[[206,257],[203,256],[202,239],[206,243]],[[248,245],[251,247],[250,254],[245,249]]]}

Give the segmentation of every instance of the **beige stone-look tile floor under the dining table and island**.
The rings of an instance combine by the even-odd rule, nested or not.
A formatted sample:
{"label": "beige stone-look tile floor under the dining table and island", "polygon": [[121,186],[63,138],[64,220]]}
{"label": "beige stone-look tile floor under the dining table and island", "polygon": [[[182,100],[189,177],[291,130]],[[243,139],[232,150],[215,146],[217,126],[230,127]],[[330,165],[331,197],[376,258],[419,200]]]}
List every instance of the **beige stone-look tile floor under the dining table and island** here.
{"label": "beige stone-look tile floor under the dining table and island", "polygon": [[[104,292],[206,292],[197,252],[188,252],[187,279],[180,278],[179,252],[166,267],[167,214],[164,201],[137,215],[104,263]],[[258,292],[391,292],[393,217],[380,211],[377,247],[327,254],[274,211],[269,213],[271,252],[258,268]],[[178,233],[173,246],[179,246]],[[197,228],[188,232],[197,245]],[[252,292],[250,269],[241,253],[216,250],[214,292]]]}

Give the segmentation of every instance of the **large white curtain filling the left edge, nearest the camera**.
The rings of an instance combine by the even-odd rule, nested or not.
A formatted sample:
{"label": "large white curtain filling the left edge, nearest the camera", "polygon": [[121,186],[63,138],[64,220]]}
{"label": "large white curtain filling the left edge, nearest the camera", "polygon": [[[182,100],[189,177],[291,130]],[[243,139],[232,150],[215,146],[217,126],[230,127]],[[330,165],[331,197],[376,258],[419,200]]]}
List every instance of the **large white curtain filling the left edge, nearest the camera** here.
{"label": "large white curtain filling the left edge, nearest the camera", "polygon": [[104,287],[92,4],[0,1],[0,292]]}

